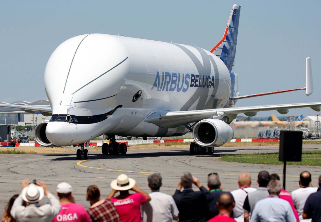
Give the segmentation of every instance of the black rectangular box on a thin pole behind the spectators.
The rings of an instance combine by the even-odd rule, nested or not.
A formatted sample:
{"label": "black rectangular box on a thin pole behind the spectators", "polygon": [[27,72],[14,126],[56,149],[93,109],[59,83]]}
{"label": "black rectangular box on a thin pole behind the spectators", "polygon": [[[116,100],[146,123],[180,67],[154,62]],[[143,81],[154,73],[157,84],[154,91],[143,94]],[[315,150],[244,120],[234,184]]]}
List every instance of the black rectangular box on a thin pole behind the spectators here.
{"label": "black rectangular box on a thin pole behind the spectators", "polygon": [[286,161],[301,161],[302,131],[282,130],[280,133],[279,160],[283,161],[283,189],[285,190]]}

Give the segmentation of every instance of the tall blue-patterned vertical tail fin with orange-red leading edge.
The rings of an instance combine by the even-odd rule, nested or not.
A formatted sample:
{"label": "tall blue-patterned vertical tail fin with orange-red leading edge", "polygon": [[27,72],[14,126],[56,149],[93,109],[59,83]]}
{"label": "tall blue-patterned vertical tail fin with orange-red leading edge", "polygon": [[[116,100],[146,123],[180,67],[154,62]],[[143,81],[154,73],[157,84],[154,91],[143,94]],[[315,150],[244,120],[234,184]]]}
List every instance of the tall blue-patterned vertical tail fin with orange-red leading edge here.
{"label": "tall blue-patterned vertical tail fin with orange-red leading edge", "polygon": [[229,21],[227,22],[227,26],[224,32],[224,36],[221,41],[219,41],[211,50],[211,53],[215,51],[214,54],[220,57],[220,59],[225,63],[230,72],[233,72],[234,69],[240,10],[241,5],[233,5]]}

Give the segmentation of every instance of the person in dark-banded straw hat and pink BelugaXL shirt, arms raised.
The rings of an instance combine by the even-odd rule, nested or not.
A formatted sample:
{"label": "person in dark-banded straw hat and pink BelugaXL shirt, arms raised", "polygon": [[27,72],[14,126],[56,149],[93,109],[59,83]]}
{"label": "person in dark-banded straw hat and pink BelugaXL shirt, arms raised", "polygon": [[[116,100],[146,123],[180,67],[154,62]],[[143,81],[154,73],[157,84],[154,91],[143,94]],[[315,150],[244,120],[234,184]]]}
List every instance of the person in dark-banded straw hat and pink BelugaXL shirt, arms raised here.
{"label": "person in dark-banded straw hat and pink BelugaXL shirt, arms raised", "polygon": [[[126,174],[120,174],[116,180],[110,183],[112,191],[107,199],[114,203],[116,211],[122,222],[137,221],[141,222],[140,206],[151,201],[151,197],[136,186],[136,181],[129,178]],[[136,193],[129,193],[132,190]],[[114,197],[117,192],[119,196]]]}

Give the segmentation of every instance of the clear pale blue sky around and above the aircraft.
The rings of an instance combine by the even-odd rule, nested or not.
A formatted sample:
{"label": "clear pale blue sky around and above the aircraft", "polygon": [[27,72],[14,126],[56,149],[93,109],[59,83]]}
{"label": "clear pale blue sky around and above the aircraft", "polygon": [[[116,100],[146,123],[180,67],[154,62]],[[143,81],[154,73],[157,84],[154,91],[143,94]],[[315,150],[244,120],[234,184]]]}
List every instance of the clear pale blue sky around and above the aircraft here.
{"label": "clear pale blue sky around and above the aircraft", "polygon": [[[308,56],[315,88],[311,96],[299,91],[240,100],[236,106],[321,101],[321,2],[238,0],[1,1],[0,101],[45,99],[48,58],[63,41],[81,34],[120,33],[210,50],[221,39],[233,4],[244,6],[234,69],[241,95],[304,87]],[[316,114],[305,108],[288,115],[301,113]]]}

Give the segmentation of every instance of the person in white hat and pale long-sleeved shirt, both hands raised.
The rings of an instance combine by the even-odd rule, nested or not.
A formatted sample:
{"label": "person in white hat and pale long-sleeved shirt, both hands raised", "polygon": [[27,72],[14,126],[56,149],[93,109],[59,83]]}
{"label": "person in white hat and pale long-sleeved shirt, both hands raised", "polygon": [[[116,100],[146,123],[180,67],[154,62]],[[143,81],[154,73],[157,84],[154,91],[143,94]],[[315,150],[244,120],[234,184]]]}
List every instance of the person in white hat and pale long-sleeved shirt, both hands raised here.
{"label": "person in white hat and pale long-sleeved shirt, both hands raised", "polygon": [[[47,196],[49,204],[40,206],[38,202],[44,195]],[[26,207],[22,205],[23,201],[27,202]],[[50,193],[44,182],[29,183],[29,180],[26,179],[22,182],[22,192],[14,201],[10,214],[17,222],[49,222],[59,211],[59,201]]]}

